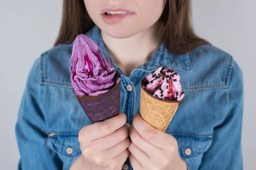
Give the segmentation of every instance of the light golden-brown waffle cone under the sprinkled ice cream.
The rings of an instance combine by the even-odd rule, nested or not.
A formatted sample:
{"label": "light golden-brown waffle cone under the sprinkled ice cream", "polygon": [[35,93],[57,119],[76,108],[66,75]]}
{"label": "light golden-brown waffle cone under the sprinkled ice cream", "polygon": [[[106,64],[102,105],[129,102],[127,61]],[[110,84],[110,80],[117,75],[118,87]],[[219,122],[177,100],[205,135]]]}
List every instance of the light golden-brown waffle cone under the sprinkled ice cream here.
{"label": "light golden-brown waffle cone under the sprinkled ice cream", "polygon": [[166,131],[172,121],[181,101],[172,102],[157,99],[148,94],[141,86],[140,91],[140,115],[152,127]]}

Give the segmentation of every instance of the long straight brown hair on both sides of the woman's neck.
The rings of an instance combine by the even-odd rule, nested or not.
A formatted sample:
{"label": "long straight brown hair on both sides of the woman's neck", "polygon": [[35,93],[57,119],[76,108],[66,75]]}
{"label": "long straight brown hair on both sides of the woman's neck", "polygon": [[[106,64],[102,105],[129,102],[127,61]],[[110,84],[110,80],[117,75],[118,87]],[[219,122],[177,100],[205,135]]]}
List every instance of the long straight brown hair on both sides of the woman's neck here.
{"label": "long straight brown hair on both sides of the woman's neck", "polygon": [[[200,45],[208,44],[199,38],[190,22],[191,0],[167,0],[161,16],[160,31],[166,48],[175,54],[185,54]],[[76,36],[94,26],[83,0],[63,0],[61,28],[55,45],[71,43]]]}

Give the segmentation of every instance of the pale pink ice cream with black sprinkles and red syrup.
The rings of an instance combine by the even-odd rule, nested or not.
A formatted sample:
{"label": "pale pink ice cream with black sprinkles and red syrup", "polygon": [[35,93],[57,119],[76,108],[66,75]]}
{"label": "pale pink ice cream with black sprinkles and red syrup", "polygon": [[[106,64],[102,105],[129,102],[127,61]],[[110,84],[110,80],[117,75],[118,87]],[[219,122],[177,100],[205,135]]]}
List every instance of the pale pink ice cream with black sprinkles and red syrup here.
{"label": "pale pink ice cream with black sprinkles and red syrup", "polygon": [[184,97],[180,76],[173,68],[158,68],[143,79],[142,85],[148,94],[159,99],[180,101]]}

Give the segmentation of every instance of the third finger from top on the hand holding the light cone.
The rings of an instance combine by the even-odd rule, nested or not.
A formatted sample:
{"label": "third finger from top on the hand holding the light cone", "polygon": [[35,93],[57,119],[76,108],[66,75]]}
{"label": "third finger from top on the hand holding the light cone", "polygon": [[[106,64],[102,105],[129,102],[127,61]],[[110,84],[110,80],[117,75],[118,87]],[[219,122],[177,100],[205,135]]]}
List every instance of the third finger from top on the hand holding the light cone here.
{"label": "third finger from top on the hand holding the light cone", "polygon": [[151,162],[149,156],[145,152],[140,150],[140,148],[137,147],[133,142],[131,142],[131,144],[128,147],[128,149],[130,150],[131,154],[133,154],[133,156],[140,162],[140,164],[144,168],[149,166],[149,164]]}

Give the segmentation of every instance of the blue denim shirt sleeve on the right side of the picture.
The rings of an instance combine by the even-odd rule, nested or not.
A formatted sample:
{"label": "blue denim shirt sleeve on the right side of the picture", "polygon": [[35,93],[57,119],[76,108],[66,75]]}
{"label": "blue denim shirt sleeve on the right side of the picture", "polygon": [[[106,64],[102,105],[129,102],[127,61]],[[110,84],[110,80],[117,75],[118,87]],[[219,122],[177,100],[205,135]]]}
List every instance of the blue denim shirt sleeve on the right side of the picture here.
{"label": "blue denim shirt sleeve on the right side of the picture", "polygon": [[212,145],[204,153],[200,170],[242,170],[241,128],[243,114],[242,72],[235,61],[230,69],[227,88],[228,109],[215,127]]}

